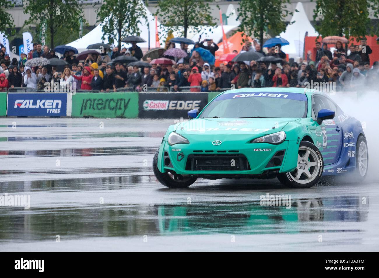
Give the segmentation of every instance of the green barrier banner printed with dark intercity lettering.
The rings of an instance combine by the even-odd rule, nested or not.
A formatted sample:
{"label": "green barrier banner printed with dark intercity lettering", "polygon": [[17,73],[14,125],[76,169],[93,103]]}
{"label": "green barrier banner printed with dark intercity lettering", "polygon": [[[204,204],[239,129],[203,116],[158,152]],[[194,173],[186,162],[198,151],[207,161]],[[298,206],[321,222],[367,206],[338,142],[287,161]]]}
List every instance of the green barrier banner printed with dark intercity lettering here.
{"label": "green barrier banner printed with dark intercity lettering", "polygon": [[137,92],[76,93],[72,96],[73,118],[137,118]]}

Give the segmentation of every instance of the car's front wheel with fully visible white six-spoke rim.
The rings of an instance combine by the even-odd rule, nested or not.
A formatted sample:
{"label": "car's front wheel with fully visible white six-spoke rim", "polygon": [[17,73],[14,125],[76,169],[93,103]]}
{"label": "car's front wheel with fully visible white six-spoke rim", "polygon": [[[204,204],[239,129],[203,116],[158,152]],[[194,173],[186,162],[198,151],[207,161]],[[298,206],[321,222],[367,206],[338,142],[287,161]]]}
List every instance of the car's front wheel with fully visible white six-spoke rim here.
{"label": "car's front wheel with fully visible white six-spoke rim", "polygon": [[279,173],[279,181],[292,188],[310,188],[321,178],[324,169],[323,156],[319,149],[308,141],[301,141],[296,169]]}

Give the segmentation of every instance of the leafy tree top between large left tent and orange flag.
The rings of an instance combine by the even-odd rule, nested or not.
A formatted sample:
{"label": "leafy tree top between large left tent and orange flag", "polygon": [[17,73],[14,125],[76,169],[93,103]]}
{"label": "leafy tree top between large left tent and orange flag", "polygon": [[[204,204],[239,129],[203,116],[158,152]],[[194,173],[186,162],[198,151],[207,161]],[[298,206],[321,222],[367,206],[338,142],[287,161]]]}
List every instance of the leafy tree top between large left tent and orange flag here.
{"label": "leafy tree top between large left tent and orange flag", "polygon": [[156,16],[165,26],[166,31],[180,31],[187,37],[188,27],[196,32],[202,27],[216,26],[215,18],[210,15],[210,3],[215,0],[159,0]]}

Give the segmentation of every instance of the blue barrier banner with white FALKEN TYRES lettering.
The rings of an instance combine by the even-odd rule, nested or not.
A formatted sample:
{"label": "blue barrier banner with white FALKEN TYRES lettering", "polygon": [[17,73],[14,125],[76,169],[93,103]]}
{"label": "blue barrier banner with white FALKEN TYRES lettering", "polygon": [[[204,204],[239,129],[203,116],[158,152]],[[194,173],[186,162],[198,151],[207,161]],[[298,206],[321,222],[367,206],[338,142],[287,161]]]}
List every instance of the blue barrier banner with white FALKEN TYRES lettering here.
{"label": "blue barrier banner with white FALKEN TYRES lettering", "polygon": [[67,115],[67,93],[8,93],[7,116]]}

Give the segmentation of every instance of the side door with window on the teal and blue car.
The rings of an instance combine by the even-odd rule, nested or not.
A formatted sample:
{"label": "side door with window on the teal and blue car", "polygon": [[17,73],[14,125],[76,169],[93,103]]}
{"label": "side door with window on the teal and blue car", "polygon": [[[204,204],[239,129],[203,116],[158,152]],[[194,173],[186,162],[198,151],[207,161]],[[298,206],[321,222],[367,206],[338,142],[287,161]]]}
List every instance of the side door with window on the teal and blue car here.
{"label": "side door with window on the teal and blue car", "polygon": [[323,149],[320,150],[324,158],[324,165],[336,163],[341,153],[343,132],[338,123],[338,113],[340,109],[326,96],[314,94],[312,96],[312,109],[317,118],[321,109],[335,111],[335,117],[332,120],[324,120],[321,123],[321,132],[323,136]]}

